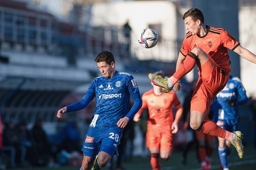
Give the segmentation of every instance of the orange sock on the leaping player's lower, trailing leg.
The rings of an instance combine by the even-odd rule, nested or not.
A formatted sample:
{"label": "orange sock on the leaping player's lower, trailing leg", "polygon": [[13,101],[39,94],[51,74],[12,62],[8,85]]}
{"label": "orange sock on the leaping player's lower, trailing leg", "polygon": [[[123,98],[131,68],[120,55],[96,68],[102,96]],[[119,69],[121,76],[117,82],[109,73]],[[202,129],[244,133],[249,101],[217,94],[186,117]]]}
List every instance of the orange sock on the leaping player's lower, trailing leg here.
{"label": "orange sock on the leaping player's lower, trailing leg", "polygon": [[196,131],[203,132],[211,136],[218,136],[227,140],[230,140],[232,137],[232,132],[226,131],[210,120],[204,120]]}

